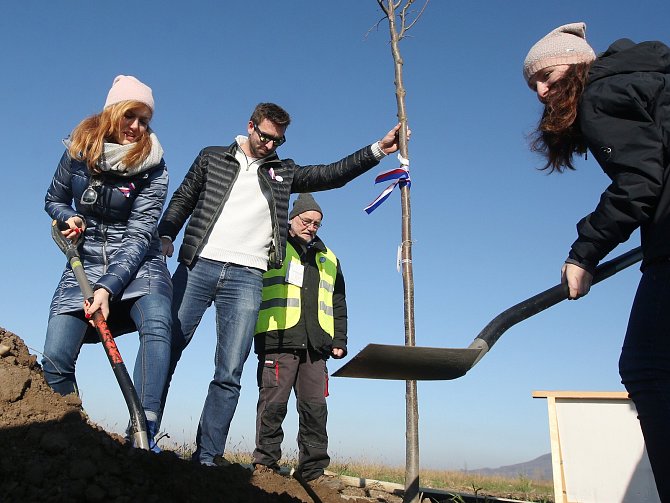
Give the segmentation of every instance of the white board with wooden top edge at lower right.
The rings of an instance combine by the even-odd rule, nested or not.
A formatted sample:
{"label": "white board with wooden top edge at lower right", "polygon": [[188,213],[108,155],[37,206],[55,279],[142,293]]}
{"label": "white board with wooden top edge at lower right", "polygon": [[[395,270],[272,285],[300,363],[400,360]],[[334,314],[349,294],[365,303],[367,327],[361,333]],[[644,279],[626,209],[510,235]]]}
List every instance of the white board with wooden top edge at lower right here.
{"label": "white board with wooden top edge at lower right", "polygon": [[626,392],[533,391],[546,398],[556,503],[659,503]]}

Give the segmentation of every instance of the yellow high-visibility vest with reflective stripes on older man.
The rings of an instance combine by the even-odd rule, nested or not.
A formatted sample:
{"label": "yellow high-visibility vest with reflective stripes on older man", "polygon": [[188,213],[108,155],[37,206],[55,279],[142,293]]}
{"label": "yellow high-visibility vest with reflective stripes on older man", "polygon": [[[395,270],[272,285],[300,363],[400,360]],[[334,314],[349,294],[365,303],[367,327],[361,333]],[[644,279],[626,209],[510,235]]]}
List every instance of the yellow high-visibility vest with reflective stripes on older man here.
{"label": "yellow high-visibility vest with reflective stripes on older man", "polygon": [[[285,330],[294,327],[300,320],[300,288],[286,282],[286,271],[290,262],[300,263],[300,257],[290,243],[286,246],[286,259],[281,269],[270,269],[263,275],[263,296],[256,323],[256,333],[269,330]],[[323,330],[333,337],[333,291],[337,277],[337,257],[326,248],[316,254],[319,270],[318,320]]]}

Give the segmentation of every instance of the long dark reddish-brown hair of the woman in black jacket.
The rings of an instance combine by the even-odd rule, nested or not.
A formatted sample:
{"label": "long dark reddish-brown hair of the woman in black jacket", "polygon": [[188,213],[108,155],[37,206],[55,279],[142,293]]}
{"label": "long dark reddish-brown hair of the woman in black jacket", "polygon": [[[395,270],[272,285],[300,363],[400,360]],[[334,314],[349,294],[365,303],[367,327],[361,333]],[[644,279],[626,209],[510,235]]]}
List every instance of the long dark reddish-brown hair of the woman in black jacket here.
{"label": "long dark reddish-brown hair of the woman in black jacket", "polygon": [[530,149],[546,159],[549,173],[575,169],[573,154],[586,153],[586,142],[577,121],[577,107],[586,86],[590,63],[570,65],[551,86],[537,129],[530,135]]}

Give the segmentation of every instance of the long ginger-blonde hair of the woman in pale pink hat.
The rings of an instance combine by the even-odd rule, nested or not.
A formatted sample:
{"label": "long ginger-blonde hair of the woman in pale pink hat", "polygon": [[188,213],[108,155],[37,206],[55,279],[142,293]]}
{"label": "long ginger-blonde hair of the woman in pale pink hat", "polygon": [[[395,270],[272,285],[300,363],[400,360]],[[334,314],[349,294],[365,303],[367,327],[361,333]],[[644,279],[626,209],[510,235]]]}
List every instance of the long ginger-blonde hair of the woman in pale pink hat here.
{"label": "long ginger-blonde hair of the woman in pale pink hat", "polygon": [[[121,131],[121,121],[132,111],[147,106],[140,101],[121,101],[110,105],[96,115],[86,117],[70,135],[68,153],[70,157],[86,161],[91,173],[99,173],[97,164],[102,157],[105,142],[118,142]],[[133,144],[133,148],[123,159],[126,166],[137,166],[149,156],[151,152],[151,129],[147,127],[145,134]]]}

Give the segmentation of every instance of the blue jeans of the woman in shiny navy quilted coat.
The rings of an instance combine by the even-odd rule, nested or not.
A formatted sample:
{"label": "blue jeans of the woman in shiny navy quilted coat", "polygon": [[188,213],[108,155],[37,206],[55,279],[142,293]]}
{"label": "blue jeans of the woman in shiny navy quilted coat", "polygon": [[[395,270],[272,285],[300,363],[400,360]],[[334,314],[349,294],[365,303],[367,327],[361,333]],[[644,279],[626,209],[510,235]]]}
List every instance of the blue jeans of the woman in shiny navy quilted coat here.
{"label": "blue jeans of the woman in shiny navy quilted coat", "polygon": [[[114,310],[114,303],[110,305]],[[130,317],[139,332],[133,382],[145,413],[156,418],[170,363],[170,298],[159,294],[138,297]],[[44,379],[61,395],[78,393],[75,365],[89,328],[83,311],[58,314],[49,319],[42,368]]]}

